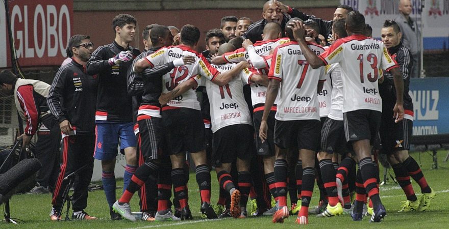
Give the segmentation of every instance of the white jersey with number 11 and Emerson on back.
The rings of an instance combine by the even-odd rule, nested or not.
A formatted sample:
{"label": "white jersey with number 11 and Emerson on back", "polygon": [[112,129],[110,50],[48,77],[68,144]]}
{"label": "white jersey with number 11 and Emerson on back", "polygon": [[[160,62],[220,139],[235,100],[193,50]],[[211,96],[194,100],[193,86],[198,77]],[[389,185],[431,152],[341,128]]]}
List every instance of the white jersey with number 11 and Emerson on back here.
{"label": "white jersey with number 11 and Emerson on back", "polygon": [[[219,72],[226,72],[236,66],[236,64],[211,65]],[[220,128],[236,125],[252,125],[250,110],[243,95],[243,85],[250,82],[253,73],[243,69],[239,75],[229,81],[228,84],[219,86],[213,83],[212,77],[197,76],[198,81],[206,86],[207,96],[210,103],[210,115],[212,132],[215,133]]]}

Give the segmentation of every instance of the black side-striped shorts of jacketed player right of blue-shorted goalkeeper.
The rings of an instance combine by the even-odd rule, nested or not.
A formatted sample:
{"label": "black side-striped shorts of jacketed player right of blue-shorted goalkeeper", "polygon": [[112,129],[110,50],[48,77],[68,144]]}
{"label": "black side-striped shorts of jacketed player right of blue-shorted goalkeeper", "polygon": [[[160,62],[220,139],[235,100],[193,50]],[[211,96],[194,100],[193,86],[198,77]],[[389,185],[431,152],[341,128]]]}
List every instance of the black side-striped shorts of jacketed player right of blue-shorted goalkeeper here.
{"label": "black side-striped shorts of jacketed player right of blue-shorted goalkeeper", "polygon": [[[145,117],[145,118],[142,118]],[[138,145],[145,159],[158,159],[162,156],[164,140],[162,136],[162,119],[157,117],[139,116]]]}

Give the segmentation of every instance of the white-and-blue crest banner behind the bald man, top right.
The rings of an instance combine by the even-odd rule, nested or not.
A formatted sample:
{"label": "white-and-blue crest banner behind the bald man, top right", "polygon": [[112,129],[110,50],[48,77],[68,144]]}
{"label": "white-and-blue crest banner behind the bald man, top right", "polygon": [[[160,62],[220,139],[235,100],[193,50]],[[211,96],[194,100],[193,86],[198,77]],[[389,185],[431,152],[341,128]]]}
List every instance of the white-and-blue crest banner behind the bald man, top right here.
{"label": "white-and-blue crest banner behind the bald man, top right", "polygon": [[[425,8],[420,12],[421,3]],[[399,15],[398,0],[340,0],[341,4],[351,6],[365,15],[366,23],[372,27],[372,36],[381,37],[385,19],[395,19]],[[443,49],[449,46],[449,0],[411,0],[413,5],[410,17],[418,26],[423,23],[424,49]],[[422,15],[422,18],[421,18]],[[422,20],[421,20],[422,19]]]}

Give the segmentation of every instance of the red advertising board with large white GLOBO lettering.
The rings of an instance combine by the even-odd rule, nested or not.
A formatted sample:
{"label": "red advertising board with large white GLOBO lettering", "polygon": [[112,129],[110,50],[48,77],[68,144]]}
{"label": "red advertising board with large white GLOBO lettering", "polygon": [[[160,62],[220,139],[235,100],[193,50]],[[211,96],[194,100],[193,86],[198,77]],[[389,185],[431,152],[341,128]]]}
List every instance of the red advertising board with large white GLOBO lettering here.
{"label": "red advertising board with large white GLOBO lettering", "polygon": [[[8,1],[15,49],[22,67],[60,65],[71,36],[73,1]],[[11,67],[5,6],[0,3],[0,68]]]}

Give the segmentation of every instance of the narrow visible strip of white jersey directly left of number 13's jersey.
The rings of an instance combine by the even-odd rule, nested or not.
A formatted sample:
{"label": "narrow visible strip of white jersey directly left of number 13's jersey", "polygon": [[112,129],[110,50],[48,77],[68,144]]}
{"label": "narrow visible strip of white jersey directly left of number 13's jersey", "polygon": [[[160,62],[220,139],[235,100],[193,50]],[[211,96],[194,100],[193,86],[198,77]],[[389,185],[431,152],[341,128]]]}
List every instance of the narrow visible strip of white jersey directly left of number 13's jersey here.
{"label": "narrow visible strip of white jersey directly left of number 13's jersey", "polygon": [[326,72],[332,77],[332,100],[329,118],[343,121],[343,81],[340,64],[326,65]]}

